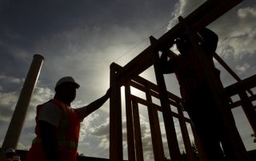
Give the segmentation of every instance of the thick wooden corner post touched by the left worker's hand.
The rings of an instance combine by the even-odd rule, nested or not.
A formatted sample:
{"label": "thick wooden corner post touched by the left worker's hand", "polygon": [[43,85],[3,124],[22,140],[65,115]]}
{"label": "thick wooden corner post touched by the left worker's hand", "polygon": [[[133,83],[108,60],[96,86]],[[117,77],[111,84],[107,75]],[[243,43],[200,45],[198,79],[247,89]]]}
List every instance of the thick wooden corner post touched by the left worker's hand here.
{"label": "thick wooden corner post touched by the left worker's hand", "polygon": [[116,70],[110,65],[110,160],[120,161],[122,155],[122,104],[121,88],[115,84]]}

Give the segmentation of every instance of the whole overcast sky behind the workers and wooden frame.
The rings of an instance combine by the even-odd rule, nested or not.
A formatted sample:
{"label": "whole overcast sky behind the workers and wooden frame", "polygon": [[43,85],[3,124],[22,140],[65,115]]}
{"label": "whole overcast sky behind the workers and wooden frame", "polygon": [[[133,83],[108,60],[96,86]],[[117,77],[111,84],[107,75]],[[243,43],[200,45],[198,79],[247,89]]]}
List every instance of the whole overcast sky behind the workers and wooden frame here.
{"label": "whole overcast sky behind the workers and wooden frame", "polygon": [[[102,96],[110,83],[112,62],[126,65],[150,45],[148,37],[160,37],[177,17],[186,17],[202,0],[55,0],[0,1],[0,143],[6,134],[19,92],[33,55],[45,57],[26,117],[19,149],[29,149],[34,137],[35,106],[54,96],[60,77],[72,76],[81,85],[74,108]],[[210,24],[219,36],[217,53],[242,79],[256,69],[256,2],[247,0]],[[219,67],[219,65],[217,64]],[[221,67],[220,67],[221,69]],[[154,75],[142,74],[154,82]],[[167,88],[179,95],[177,81],[167,76]],[[166,81],[166,82],[167,82]],[[234,83],[222,70],[223,84]],[[145,114],[145,115],[144,115]],[[255,149],[252,131],[242,111],[234,110],[242,139]],[[124,112],[122,113],[125,118]],[[153,158],[146,112],[141,112],[145,159]],[[160,118],[161,120],[161,118]],[[123,138],[126,139],[124,125]],[[162,122],[161,122],[162,124]],[[163,126],[162,126],[163,127]],[[178,129],[177,129],[178,130]],[[165,132],[162,132],[165,135]],[[109,103],[82,123],[78,151],[84,155],[109,156]],[[179,135],[179,138],[180,135]],[[166,140],[165,147],[166,147]],[[148,144],[146,144],[148,143]],[[166,149],[166,148],[165,148]],[[126,158],[126,142],[124,142]],[[169,154],[166,154],[168,156]]]}

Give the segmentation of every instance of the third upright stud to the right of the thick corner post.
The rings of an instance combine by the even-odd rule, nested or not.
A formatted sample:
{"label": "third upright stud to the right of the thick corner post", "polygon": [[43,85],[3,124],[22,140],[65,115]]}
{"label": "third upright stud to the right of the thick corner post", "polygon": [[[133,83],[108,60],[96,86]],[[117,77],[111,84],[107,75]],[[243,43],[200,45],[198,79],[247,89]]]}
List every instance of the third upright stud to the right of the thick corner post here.
{"label": "third upright stud to the right of the thick corner post", "polygon": [[150,95],[150,88],[146,85],[146,100],[150,102],[147,106],[149,120],[150,120],[150,132],[154,150],[154,160],[164,161],[165,154],[162,145],[162,135],[158,119],[158,110],[152,106],[152,98]]}

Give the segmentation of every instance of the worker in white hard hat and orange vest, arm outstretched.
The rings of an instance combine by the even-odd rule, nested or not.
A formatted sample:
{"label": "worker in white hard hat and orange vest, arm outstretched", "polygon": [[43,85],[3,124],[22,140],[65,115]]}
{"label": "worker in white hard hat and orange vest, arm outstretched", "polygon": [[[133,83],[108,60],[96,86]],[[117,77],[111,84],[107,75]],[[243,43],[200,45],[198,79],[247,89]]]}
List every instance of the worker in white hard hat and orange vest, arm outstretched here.
{"label": "worker in white hard hat and orange vest, arm outstretched", "polygon": [[80,122],[100,108],[110,97],[104,96],[82,108],[71,108],[80,85],[73,77],[62,77],[55,86],[55,96],[38,105],[36,138],[26,155],[26,161],[76,161]]}

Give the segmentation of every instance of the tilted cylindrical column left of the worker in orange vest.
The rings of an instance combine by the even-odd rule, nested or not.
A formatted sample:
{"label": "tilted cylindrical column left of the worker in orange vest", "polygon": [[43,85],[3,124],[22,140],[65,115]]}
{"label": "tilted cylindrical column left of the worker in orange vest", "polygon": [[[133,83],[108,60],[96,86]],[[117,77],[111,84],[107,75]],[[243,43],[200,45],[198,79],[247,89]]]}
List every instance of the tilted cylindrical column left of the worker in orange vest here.
{"label": "tilted cylindrical column left of the worker in orange vest", "polygon": [[30,98],[34,91],[34,86],[38,80],[40,69],[42,67],[43,57],[35,54],[30,70],[26,76],[26,81],[23,84],[22,92],[18,98],[14,114],[10,120],[9,128],[6,132],[5,139],[2,143],[2,149],[0,154],[0,161],[5,158],[5,151],[7,148],[16,149],[18,145],[18,139],[22,132],[22,126],[26,118],[26,111],[30,104]]}

